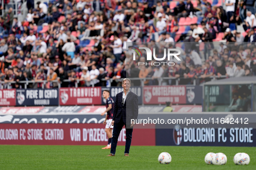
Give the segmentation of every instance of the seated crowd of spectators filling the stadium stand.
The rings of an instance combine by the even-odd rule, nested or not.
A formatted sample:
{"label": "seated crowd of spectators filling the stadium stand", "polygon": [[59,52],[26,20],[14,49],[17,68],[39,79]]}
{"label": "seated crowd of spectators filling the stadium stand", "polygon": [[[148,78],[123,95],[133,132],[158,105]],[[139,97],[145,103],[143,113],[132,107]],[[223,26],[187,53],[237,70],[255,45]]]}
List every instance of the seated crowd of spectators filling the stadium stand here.
{"label": "seated crowd of spectators filling the stadium stand", "polygon": [[[255,0],[52,0],[35,5],[28,0],[24,21],[14,18],[8,2],[0,4],[8,9],[0,17],[0,77],[5,83],[16,81],[13,88],[23,88],[19,81],[26,80],[48,80],[52,88],[58,86],[52,80],[65,79],[70,82],[62,87],[73,87],[78,79],[80,86],[116,86],[126,76],[149,77],[144,84],[158,85],[160,77],[200,84],[211,76],[256,75]],[[133,61],[126,54],[126,42],[152,43],[161,54],[162,41],[183,51],[181,62],[138,66],[145,58]]]}

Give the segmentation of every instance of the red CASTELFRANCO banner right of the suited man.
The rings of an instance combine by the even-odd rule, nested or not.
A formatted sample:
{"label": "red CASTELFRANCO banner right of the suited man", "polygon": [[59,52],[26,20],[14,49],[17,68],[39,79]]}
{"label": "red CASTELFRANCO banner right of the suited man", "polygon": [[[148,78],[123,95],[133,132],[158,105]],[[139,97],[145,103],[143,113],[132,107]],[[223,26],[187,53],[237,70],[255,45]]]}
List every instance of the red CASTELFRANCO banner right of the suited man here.
{"label": "red CASTELFRANCO banner right of the suited man", "polygon": [[186,104],[185,85],[144,86],[144,104],[165,104],[170,101],[173,104]]}

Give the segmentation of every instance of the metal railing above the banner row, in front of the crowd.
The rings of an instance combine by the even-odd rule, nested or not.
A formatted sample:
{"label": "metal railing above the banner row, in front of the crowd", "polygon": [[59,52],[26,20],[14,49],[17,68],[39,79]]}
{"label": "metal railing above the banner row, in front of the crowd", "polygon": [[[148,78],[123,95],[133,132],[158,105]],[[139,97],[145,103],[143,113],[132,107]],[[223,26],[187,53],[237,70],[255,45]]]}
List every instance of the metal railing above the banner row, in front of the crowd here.
{"label": "metal railing above the banner row, in front of the crowd", "polygon": [[[217,77],[217,76],[211,76],[211,77],[208,77],[208,78],[210,78],[211,79],[211,81],[214,81],[214,80],[216,80],[216,79],[218,79],[218,78],[227,78],[227,76],[220,76],[220,77]],[[141,86],[144,86],[144,82],[146,81],[146,80],[152,80],[152,78],[129,78],[130,80],[140,80],[140,82],[141,82]],[[159,84],[158,85],[162,85],[162,81],[163,80],[175,80],[175,85],[179,85],[179,81],[181,80],[181,79],[185,79],[185,78],[175,78],[175,77],[161,77],[161,78],[158,78],[157,80],[158,80],[158,82],[159,82]],[[101,79],[102,81],[107,81],[106,79]],[[109,79],[110,80],[110,82],[113,82],[113,81],[115,81],[115,80],[117,80],[118,82],[121,82],[123,79]],[[78,84],[79,84],[79,82],[84,82],[84,80],[75,80],[75,88],[77,88],[78,87]],[[48,82],[57,82],[58,83],[58,88],[61,88],[61,84],[62,84],[62,82],[72,82],[71,80],[69,80],[69,79],[66,79],[66,80],[63,80],[62,82],[59,82],[58,80],[53,80],[53,81],[47,81],[47,80],[42,80],[42,81],[37,81],[37,82],[35,82],[34,80],[30,80],[30,81],[19,81],[19,82],[16,82],[16,81],[13,81],[13,82],[4,82],[4,81],[0,81],[0,89],[3,89],[3,86],[4,85],[6,85],[6,87],[7,87],[7,89],[10,89],[10,88],[12,88],[11,87],[11,85],[12,84],[24,84],[24,88],[25,89],[27,89],[28,88],[28,85],[29,84],[35,84],[35,83],[42,83],[42,88],[45,88],[46,87],[46,84],[48,83]],[[193,80],[193,84],[191,84],[191,85],[196,85],[196,79],[194,79]],[[36,86],[37,87],[37,86]],[[92,85],[92,87],[94,87],[94,85]]]}

